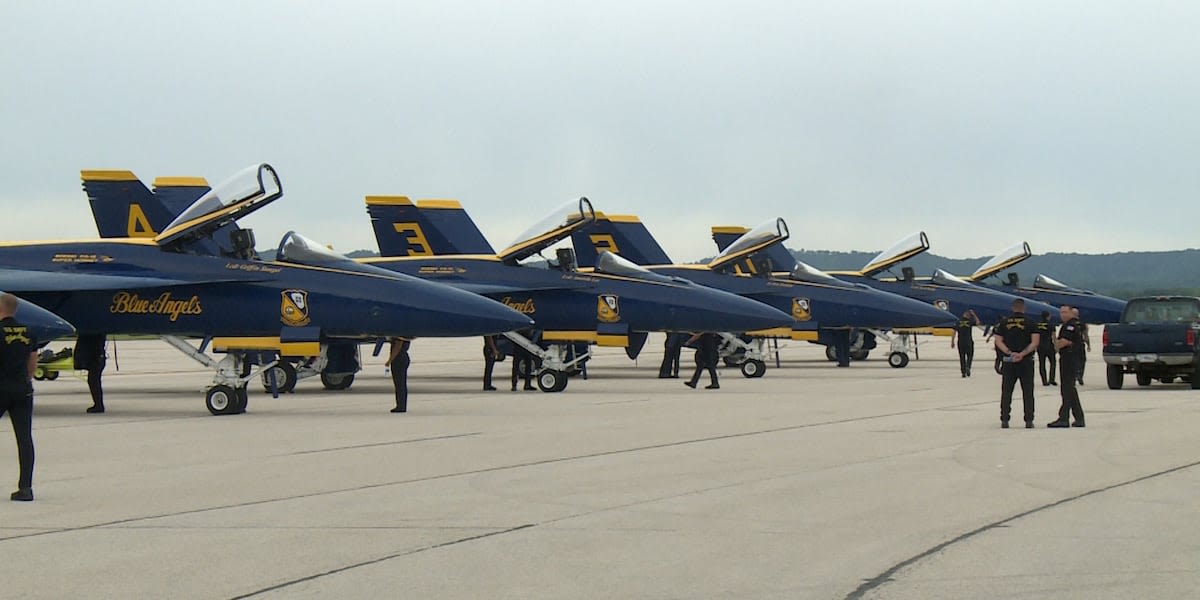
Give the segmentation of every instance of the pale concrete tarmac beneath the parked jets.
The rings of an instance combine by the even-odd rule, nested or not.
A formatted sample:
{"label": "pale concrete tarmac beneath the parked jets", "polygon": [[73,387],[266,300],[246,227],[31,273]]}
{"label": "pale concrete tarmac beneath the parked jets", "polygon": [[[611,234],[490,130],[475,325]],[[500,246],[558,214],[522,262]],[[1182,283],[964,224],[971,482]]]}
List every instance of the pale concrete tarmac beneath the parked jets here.
{"label": "pale concrete tarmac beneath the parked jets", "polygon": [[[1048,430],[1038,384],[1037,428],[1018,392],[1001,430],[976,347],[962,378],[947,338],[906,368],[790,342],[761,379],[690,390],[652,336],[542,394],[510,392],[508,361],[481,391],[478,338],[418,340],[407,414],[365,347],[350,390],[254,383],[211,416],[209,372],[119,342],[107,414],[71,373],[37,383],[0,598],[1194,598],[1200,391],[1108,390],[1097,343],[1086,428]],[[4,419],[14,482],[11,439]]]}

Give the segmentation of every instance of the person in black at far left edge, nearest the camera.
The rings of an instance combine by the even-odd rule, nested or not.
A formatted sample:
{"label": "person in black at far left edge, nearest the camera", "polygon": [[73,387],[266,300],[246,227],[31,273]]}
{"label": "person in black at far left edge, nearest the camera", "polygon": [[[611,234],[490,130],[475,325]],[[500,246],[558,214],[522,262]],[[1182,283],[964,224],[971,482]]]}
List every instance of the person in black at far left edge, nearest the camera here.
{"label": "person in black at far left edge, nearest the camera", "polygon": [[0,295],[0,416],[8,413],[12,434],[17,438],[17,462],[20,475],[14,502],[34,499],[34,371],[37,370],[37,340],[22,325],[17,314],[17,296]]}

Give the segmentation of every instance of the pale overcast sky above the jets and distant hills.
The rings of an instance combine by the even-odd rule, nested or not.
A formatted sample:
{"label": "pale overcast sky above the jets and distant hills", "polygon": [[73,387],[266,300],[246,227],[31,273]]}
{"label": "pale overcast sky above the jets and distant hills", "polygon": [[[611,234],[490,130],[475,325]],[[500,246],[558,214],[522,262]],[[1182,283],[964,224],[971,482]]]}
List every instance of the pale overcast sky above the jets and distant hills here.
{"label": "pale overcast sky above the jets and distant hills", "polygon": [[458,199],[497,247],[587,196],[676,260],[776,216],[805,248],[1198,247],[1196,31],[1190,1],[10,1],[0,239],[94,238],[83,168],[269,162],[262,247],[374,248],[365,194]]}

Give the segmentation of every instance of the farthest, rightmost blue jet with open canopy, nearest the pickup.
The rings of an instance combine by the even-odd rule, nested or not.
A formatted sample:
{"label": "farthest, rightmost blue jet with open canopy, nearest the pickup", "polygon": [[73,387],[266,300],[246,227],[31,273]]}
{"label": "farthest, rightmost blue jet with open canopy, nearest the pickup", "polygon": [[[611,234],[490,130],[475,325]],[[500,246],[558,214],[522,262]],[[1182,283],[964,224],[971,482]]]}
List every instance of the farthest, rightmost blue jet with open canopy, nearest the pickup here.
{"label": "farthest, rightmost blue jet with open canopy, nearest the pickup", "polygon": [[[1080,319],[1084,323],[1103,325],[1105,323],[1118,323],[1121,313],[1124,312],[1126,301],[1118,298],[1097,294],[1090,289],[1079,289],[1061,283],[1046,275],[1038,274],[1033,280],[1033,287],[1022,287],[1020,277],[1015,271],[1009,271],[1008,277],[1000,276],[1004,269],[1012,269],[1033,253],[1028,242],[1015,244],[1004,248],[990,260],[976,269],[973,274],[962,277],[966,281],[986,286],[989,277],[1000,280],[1000,286],[988,286],[1001,292],[1016,294],[1021,298],[1045,302],[1051,306],[1070,305],[1079,308]],[[1054,312],[1051,311],[1051,314]],[[1034,314],[1037,317],[1037,314]]]}

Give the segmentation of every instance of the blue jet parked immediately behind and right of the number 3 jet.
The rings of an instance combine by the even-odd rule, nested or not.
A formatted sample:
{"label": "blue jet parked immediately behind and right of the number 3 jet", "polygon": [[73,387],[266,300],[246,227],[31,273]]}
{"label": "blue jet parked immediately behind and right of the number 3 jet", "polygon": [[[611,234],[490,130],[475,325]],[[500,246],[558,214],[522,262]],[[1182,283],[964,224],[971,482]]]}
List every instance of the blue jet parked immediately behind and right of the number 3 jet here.
{"label": "blue jet parked immediately behind and right of the number 3 jet", "polygon": [[[587,264],[605,250],[628,253],[631,260],[653,272],[688,277],[787,311],[792,323],[774,330],[726,330],[750,334],[751,341],[725,334],[725,350],[742,360],[743,374],[755,377],[764,366],[764,337],[788,337],[818,343],[840,344],[848,355],[850,335],[854,328],[944,325],[954,317],[942,310],[907,298],[896,296],[838,281],[805,264],[780,263],[791,269],[775,275],[774,265],[764,262],[763,250],[781,245],[788,236],[782,218],[767,221],[740,235],[707,264],[672,264],[646,226],[628,215],[596,218],[590,227],[575,233],[572,241]],[[583,258],[587,257],[587,258]]]}

